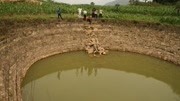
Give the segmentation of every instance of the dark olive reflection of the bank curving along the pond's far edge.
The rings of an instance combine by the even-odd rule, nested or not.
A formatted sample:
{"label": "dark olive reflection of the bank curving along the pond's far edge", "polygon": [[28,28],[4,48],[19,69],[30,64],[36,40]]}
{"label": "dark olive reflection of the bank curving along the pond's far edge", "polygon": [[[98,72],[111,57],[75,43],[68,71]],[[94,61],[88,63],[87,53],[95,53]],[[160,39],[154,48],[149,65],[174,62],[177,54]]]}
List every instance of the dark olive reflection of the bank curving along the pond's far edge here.
{"label": "dark olive reflection of the bank curving along the pond's far edge", "polygon": [[149,56],[116,51],[111,51],[108,55],[100,57],[91,57],[79,51],[42,59],[30,67],[22,82],[22,87],[45,75],[56,72],[57,79],[61,80],[62,73],[72,69],[76,69],[76,76],[83,73],[88,76],[97,76],[100,68],[154,78],[168,84],[175,93],[180,95],[179,66]]}

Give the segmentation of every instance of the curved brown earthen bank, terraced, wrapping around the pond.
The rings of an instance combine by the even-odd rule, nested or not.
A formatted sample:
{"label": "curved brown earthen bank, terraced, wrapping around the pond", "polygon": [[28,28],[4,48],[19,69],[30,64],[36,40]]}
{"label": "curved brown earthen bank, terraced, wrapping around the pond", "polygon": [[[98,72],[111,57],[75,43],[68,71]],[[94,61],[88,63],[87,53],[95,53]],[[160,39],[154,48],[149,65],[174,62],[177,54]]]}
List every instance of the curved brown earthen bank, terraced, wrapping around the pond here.
{"label": "curved brown earthen bank, terraced, wrapping around the pond", "polygon": [[89,35],[107,50],[128,51],[180,65],[180,32],[135,25],[58,22],[14,28],[0,41],[0,101],[22,101],[21,82],[36,61],[85,50]]}

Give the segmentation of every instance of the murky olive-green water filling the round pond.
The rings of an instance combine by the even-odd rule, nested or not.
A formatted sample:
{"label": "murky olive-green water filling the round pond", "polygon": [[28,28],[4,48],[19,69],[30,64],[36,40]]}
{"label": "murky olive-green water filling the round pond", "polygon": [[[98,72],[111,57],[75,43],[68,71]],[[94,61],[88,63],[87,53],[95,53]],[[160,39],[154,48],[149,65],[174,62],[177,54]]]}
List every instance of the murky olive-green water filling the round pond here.
{"label": "murky olive-green water filling the round pond", "polygon": [[71,52],[29,69],[23,101],[180,101],[180,67],[149,56]]}

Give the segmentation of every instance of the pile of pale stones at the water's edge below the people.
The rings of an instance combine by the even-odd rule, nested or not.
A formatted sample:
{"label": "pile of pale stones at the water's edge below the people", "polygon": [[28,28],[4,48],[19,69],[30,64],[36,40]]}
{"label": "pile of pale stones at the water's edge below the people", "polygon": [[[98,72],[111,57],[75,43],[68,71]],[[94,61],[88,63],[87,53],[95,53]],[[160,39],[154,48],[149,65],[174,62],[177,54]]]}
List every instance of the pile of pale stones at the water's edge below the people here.
{"label": "pile of pale stones at the water's edge below the people", "polygon": [[88,54],[99,54],[104,55],[107,53],[107,51],[99,44],[99,41],[97,38],[90,38],[85,43],[85,50]]}

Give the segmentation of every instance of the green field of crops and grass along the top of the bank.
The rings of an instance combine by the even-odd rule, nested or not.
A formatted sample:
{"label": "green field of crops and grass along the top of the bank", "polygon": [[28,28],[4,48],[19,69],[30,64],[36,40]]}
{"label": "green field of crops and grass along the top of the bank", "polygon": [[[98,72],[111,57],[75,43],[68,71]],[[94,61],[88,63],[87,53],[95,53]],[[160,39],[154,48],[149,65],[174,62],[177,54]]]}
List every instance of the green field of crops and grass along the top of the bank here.
{"label": "green field of crops and grass along the top of the bank", "polygon": [[77,8],[86,9],[89,14],[93,7],[103,10],[104,19],[143,21],[180,25],[180,15],[175,6],[91,6],[67,5],[58,3],[43,3],[42,5],[29,3],[0,3],[0,19],[56,19],[56,10],[60,7],[62,15],[67,20],[75,20]]}

